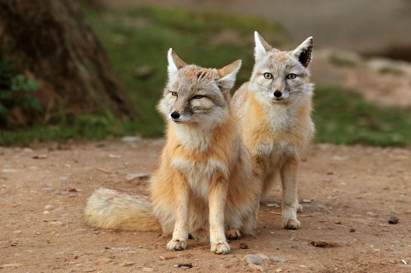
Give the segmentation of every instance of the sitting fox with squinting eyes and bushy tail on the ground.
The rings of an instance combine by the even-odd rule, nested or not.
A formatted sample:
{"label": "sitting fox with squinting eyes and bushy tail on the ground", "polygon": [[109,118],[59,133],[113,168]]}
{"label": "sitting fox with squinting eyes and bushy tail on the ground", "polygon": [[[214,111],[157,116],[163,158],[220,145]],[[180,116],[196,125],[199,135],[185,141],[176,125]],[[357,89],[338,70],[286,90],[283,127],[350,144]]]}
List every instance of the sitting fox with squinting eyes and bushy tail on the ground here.
{"label": "sitting fox with squinting eyes and bushy tail on the ground", "polygon": [[148,196],[100,188],[84,218],[97,228],[155,231],[172,236],[168,250],[210,239],[211,251],[230,252],[227,239],[253,235],[260,184],[240,140],[231,107],[241,60],[220,69],[188,65],[170,49],[168,81],[157,109],[166,121],[165,145]]}

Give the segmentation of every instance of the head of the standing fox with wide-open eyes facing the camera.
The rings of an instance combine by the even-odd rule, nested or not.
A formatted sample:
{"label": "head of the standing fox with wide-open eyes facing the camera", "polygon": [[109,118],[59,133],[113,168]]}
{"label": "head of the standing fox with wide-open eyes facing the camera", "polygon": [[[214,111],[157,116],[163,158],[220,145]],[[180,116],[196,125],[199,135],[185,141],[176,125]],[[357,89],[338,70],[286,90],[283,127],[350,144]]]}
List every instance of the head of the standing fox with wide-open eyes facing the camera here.
{"label": "head of the standing fox with wide-open eyes facing the camera", "polygon": [[308,65],[312,60],[312,37],[291,51],[271,47],[258,32],[251,89],[261,102],[301,104],[312,95]]}

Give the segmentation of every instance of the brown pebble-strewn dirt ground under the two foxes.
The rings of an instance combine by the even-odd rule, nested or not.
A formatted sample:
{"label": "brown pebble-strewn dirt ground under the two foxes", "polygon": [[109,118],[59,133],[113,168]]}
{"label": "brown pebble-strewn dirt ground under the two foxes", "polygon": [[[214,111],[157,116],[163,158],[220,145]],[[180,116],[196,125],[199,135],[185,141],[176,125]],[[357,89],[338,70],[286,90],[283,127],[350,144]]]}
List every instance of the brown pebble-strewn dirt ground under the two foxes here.
{"label": "brown pebble-strewn dirt ground under the two foxes", "polygon": [[[281,191],[262,205],[255,237],[216,255],[207,241],[167,251],[160,232],[97,230],[82,212],[104,185],[147,192],[161,140],[0,147],[0,271],[3,272],[398,272],[411,262],[411,149],[313,146],[299,174],[302,228],[281,228]],[[390,217],[399,219],[389,224]],[[336,243],[321,248],[312,241]],[[247,244],[241,249],[240,244]],[[241,258],[263,253],[260,267]],[[283,260],[279,262],[278,260]],[[404,262],[402,262],[404,260]],[[192,263],[192,268],[174,267]]]}

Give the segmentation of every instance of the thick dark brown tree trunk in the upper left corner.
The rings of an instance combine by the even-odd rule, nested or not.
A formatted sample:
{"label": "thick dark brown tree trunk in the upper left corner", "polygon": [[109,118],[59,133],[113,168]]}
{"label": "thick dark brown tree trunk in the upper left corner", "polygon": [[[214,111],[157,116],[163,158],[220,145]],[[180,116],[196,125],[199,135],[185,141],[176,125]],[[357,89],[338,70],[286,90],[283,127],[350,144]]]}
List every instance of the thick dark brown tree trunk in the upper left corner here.
{"label": "thick dark brown tree trunk in the upper left corner", "polygon": [[102,113],[134,120],[107,56],[83,13],[70,0],[1,0],[0,58],[41,84],[36,92],[54,114]]}

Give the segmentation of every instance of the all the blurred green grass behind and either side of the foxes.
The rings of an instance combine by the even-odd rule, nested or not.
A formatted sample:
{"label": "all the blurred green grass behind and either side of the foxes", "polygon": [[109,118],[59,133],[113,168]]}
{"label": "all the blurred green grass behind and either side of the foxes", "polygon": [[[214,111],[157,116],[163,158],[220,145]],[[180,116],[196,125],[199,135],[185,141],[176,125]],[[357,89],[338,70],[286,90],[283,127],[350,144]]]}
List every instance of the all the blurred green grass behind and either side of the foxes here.
{"label": "all the blurred green grass behind and either side of the foxes", "polygon": [[[163,122],[155,105],[166,81],[167,49],[172,47],[185,62],[204,67],[222,67],[242,59],[238,87],[249,79],[254,65],[254,30],[273,46],[289,42],[280,25],[242,15],[148,6],[103,11],[85,7],[85,11],[141,122],[120,122],[108,113],[80,115],[55,126],[0,131],[0,145],[32,140],[101,140],[132,134],[160,136]],[[138,77],[136,70],[141,67],[152,72]],[[314,103],[316,142],[411,146],[411,114],[407,110],[376,106],[358,93],[338,87],[317,87]]]}

